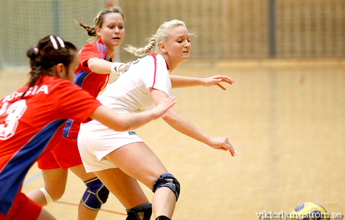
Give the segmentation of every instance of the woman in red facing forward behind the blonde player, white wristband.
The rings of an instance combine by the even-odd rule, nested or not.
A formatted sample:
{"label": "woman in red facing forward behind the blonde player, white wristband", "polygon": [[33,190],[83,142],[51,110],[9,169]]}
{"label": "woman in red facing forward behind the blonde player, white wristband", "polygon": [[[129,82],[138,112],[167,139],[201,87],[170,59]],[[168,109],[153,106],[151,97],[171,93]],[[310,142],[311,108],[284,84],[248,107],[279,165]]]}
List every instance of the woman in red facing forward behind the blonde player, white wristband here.
{"label": "woman in red facing forward behind the blonde player, white wristband", "polygon": [[[77,23],[96,40],[79,51],[78,67],[74,72],[75,84],[96,98],[106,86],[110,73],[127,67],[124,63],[112,63],[115,48],[124,39],[124,15],[120,7],[105,8],[95,17],[94,28]],[[38,159],[44,188],[34,189],[27,196],[42,206],[60,199],[66,188],[69,168],[86,185],[79,202],[78,220],[94,220],[109,191],[94,173],[85,172],[76,139],[79,126],[80,121],[69,119],[63,129],[63,137],[55,143],[56,147]],[[66,154],[67,151],[69,154]]]}

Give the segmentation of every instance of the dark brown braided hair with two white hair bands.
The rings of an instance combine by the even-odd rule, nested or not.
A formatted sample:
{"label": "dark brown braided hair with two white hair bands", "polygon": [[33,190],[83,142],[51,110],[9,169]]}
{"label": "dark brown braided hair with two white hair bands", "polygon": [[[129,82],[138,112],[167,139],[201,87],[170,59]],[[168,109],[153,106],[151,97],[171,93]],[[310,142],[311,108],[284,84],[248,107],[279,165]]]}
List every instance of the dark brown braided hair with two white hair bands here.
{"label": "dark brown braided hair with two white hair bands", "polygon": [[64,41],[58,36],[49,35],[40,39],[35,48],[27,51],[27,57],[30,59],[31,66],[31,78],[27,91],[35,85],[40,76],[55,75],[51,72],[51,69],[56,64],[63,63],[68,68],[73,61],[76,51],[77,49],[72,43]]}

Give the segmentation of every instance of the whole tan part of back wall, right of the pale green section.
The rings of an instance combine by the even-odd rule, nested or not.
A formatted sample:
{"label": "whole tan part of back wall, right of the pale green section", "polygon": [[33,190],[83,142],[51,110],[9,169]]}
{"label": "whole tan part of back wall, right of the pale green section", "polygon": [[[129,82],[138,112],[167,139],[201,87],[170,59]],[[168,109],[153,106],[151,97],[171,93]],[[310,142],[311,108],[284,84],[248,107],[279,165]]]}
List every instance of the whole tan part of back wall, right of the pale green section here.
{"label": "whole tan part of back wall, right of the pale green section", "polygon": [[[124,45],[143,46],[159,25],[179,19],[197,34],[192,40],[195,59],[345,57],[345,0],[119,2],[127,17]],[[274,19],[273,28],[269,19]],[[135,59],[123,50],[121,57]]]}

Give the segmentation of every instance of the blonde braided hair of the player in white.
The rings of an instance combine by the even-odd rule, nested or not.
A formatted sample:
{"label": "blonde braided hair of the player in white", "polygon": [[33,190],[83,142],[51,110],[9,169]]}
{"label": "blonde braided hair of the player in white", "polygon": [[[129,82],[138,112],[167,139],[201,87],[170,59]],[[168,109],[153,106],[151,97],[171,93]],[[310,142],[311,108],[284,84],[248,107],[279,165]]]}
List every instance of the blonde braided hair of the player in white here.
{"label": "blonde braided hair of the player in white", "polygon": [[151,53],[162,53],[159,49],[159,43],[168,43],[169,37],[171,35],[171,30],[178,26],[186,27],[186,25],[179,20],[165,22],[158,28],[156,34],[152,35],[152,37],[149,38],[149,42],[146,46],[142,48],[136,48],[132,45],[127,45],[124,49],[137,57],[143,57]]}

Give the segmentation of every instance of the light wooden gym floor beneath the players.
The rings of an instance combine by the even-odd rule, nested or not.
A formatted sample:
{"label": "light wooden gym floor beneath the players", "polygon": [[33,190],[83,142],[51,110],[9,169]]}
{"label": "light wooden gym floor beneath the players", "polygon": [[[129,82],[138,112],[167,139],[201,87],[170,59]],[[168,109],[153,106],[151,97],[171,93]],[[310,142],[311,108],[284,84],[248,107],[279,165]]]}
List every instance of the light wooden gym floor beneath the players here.
{"label": "light wooden gym floor beneath the players", "polygon": [[[210,149],[161,119],[137,129],[181,183],[173,220],[257,220],[255,213],[291,212],[307,201],[345,215],[343,60],[187,63],[173,74],[236,81],[227,91],[195,87],[173,95],[182,115],[212,137],[227,136],[240,155]],[[0,72],[0,97],[27,79],[23,71]],[[35,164],[23,191],[40,187]],[[84,190],[69,173],[64,196],[46,209],[76,220]],[[143,190],[151,200],[153,193]],[[97,219],[124,220],[125,213],[109,195]]]}

